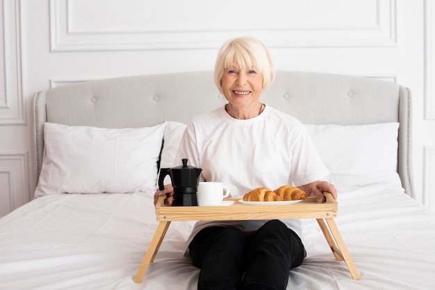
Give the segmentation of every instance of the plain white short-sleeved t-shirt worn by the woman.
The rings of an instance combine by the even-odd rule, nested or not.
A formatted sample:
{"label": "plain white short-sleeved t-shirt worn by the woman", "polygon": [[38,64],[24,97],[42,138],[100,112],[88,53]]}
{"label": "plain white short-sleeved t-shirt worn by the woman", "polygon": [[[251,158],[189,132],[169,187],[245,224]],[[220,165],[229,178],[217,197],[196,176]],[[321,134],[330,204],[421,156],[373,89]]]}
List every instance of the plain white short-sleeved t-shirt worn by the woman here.
{"label": "plain white short-sleeved t-shirt worn by the woman", "polygon": [[[188,165],[202,169],[201,180],[229,187],[230,198],[243,198],[257,187],[274,190],[281,185],[306,185],[329,174],[305,126],[268,105],[247,120],[234,119],[224,107],[195,117],[184,132],[174,166],[183,158]],[[186,246],[199,230],[211,225],[234,225],[249,232],[263,223],[199,221]],[[286,223],[300,234],[297,224]]]}

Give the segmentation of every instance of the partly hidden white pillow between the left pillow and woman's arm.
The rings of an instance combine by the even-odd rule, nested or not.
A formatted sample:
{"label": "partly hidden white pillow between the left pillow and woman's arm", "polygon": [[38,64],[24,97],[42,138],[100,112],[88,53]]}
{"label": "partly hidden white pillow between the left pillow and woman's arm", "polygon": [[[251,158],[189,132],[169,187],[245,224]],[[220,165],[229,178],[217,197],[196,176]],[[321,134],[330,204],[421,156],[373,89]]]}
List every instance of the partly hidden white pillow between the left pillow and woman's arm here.
{"label": "partly hidden white pillow between the left pillow and woman's arm", "polygon": [[[163,148],[161,154],[161,168],[170,168],[174,166],[175,155],[183,137],[186,124],[176,121],[167,121],[165,135],[163,136]],[[181,160],[180,160],[181,162]]]}

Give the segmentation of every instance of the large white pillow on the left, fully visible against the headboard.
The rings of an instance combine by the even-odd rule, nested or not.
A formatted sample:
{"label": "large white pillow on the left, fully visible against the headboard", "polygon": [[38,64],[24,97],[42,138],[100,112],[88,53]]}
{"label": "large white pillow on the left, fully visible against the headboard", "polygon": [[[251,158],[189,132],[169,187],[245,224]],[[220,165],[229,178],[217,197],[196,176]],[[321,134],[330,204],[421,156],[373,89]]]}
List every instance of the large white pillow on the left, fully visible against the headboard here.
{"label": "large white pillow on the left, fully visible against the headboard", "polygon": [[109,129],[44,123],[44,159],[35,198],[154,191],[165,126]]}

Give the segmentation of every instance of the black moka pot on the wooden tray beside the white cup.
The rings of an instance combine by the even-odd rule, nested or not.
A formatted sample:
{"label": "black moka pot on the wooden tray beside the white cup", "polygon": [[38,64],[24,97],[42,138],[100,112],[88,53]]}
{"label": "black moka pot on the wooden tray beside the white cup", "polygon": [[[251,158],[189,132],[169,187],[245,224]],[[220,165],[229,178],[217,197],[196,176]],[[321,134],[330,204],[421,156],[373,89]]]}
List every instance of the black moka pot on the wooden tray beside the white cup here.
{"label": "black moka pot on the wooden tray beside the white cup", "polygon": [[163,180],[169,174],[174,187],[173,206],[198,205],[197,188],[199,184],[199,174],[202,169],[188,166],[188,160],[182,159],[183,165],[173,168],[161,168],[158,176],[158,188],[165,189]]}

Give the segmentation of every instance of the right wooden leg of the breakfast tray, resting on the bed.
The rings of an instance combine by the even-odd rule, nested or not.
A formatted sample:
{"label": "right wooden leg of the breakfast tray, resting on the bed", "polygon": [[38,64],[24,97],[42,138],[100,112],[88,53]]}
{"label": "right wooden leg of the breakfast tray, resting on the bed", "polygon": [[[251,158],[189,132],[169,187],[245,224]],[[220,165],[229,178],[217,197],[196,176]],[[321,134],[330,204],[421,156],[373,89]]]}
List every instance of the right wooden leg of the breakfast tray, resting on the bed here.
{"label": "right wooden leg of the breakfast tray, resting on the bed", "polygon": [[359,273],[358,270],[356,270],[354,261],[352,260],[352,257],[350,257],[350,253],[347,250],[347,247],[345,245],[345,242],[343,241],[343,238],[341,237],[340,232],[338,231],[336,222],[334,219],[325,219],[329,226],[329,230],[331,230],[332,236],[334,236],[334,240],[331,238],[331,234],[329,234],[329,230],[327,229],[327,226],[325,225],[325,222],[322,219],[317,219],[320,228],[322,229],[323,234],[325,234],[325,237],[328,241],[329,246],[331,246],[332,253],[334,253],[334,256],[337,259],[340,257],[340,259],[337,259],[339,261],[345,261],[347,268],[349,268],[350,275],[352,275],[352,278],[354,280],[359,280]]}

